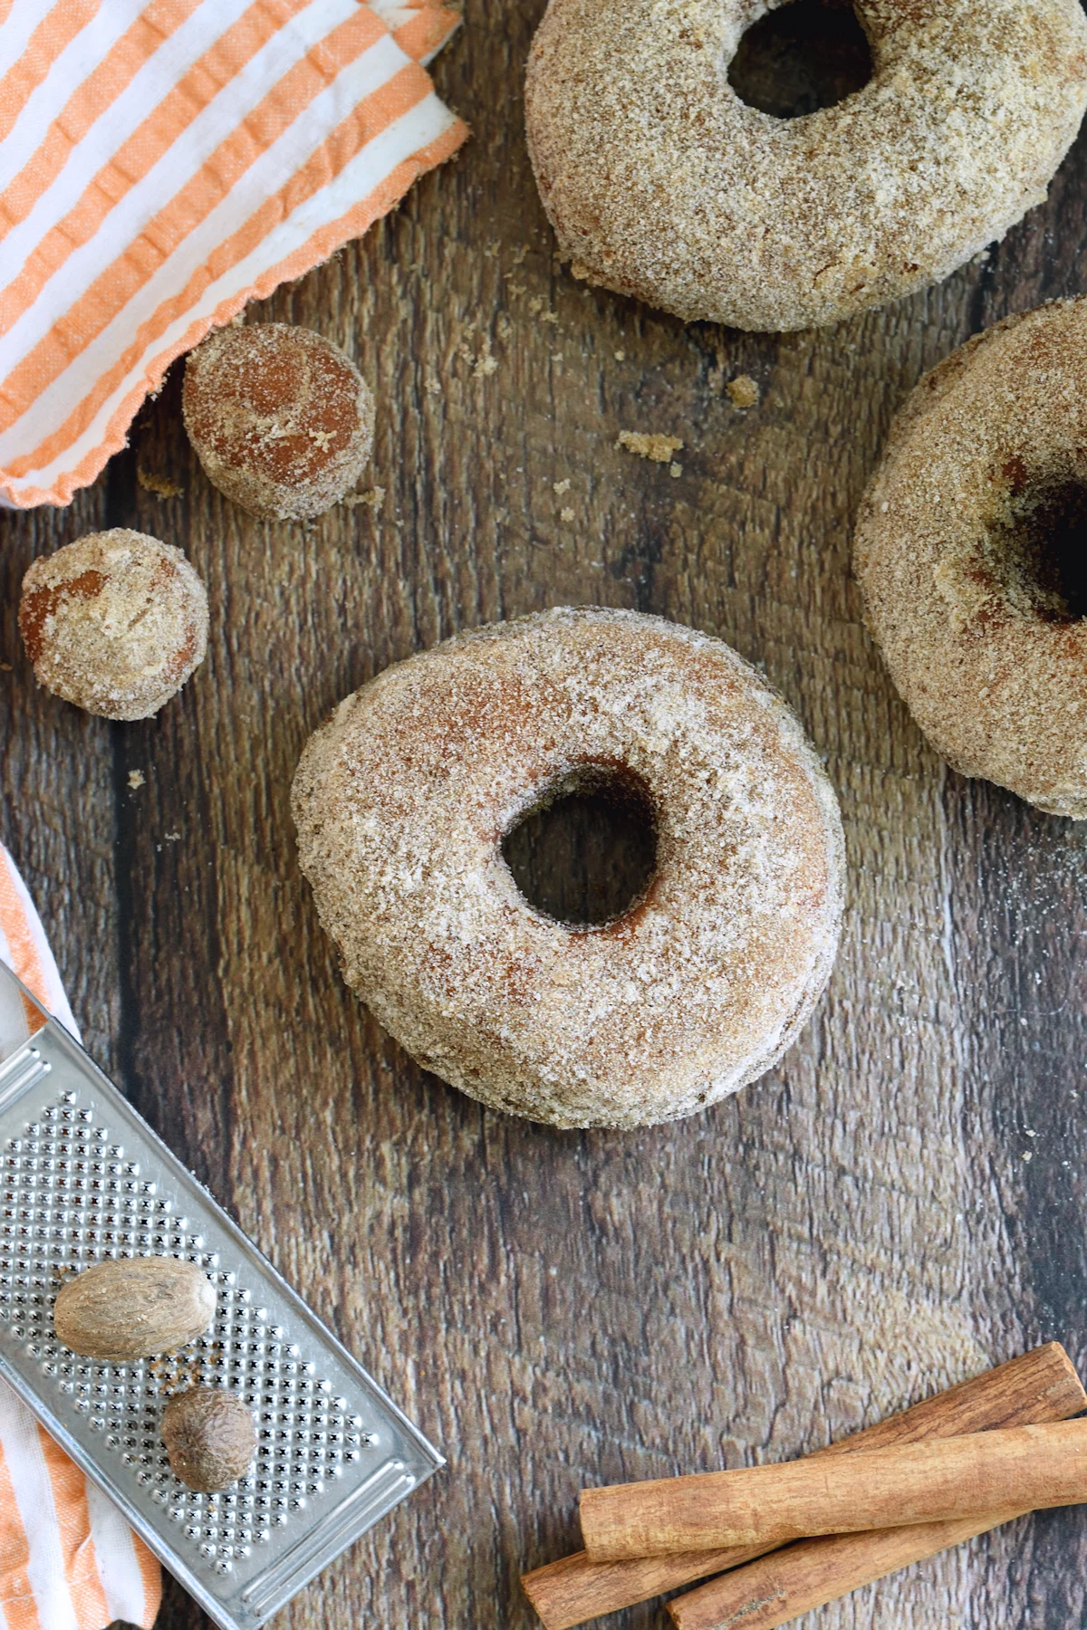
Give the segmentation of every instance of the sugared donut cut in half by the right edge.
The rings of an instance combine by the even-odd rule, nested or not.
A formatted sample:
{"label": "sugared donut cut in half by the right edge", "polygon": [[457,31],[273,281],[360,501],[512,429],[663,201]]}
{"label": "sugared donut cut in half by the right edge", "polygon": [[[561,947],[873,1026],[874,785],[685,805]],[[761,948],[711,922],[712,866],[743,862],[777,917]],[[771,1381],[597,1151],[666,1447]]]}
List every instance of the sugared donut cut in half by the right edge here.
{"label": "sugared donut cut in half by the right edge", "polygon": [[926,375],[864,497],[856,572],[939,753],[1087,818],[1087,300],[971,339]]}

